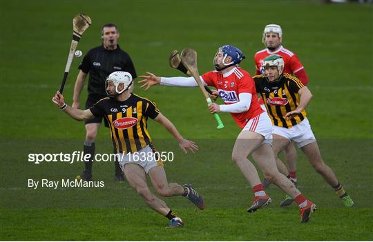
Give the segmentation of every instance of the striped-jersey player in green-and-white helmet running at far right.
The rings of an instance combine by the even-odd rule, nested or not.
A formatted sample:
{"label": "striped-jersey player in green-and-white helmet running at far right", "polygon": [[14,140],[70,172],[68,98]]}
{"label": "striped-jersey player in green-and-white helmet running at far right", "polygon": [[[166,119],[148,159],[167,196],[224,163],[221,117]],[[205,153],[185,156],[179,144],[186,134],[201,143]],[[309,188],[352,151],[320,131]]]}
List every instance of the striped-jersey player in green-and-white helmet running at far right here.
{"label": "striped-jersey player in green-and-white helmet running at far right", "polygon": [[321,174],[343,204],[352,207],[354,201],[347,195],[336,179],[333,170],[321,158],[314,133],[306,117],[305,108],[312,99],[312,93],[296,77],[283,74],[284,61],[278,54],[272,54],[262,61],[265,74],[254,76],[256,91],[260,93],[272,124],[274,125],[274,152],[277,164],[283,163],[278,154],[294,141],[305,153],[309,163]]}

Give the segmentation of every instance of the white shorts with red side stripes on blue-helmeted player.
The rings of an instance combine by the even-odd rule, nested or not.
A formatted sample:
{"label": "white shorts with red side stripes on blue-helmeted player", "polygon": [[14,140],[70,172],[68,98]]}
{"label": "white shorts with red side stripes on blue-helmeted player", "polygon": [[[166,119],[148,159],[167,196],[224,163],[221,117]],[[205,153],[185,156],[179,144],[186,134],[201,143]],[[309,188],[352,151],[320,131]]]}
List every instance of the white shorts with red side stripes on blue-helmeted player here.
{"label": "white shorts with red side stripes on blue-helmeted player", "polygon": [[250,119],[242,130],[261,134],[265,137],[262,143],[272,144],[272,122],[267,112],[262,112],[258,116]]}

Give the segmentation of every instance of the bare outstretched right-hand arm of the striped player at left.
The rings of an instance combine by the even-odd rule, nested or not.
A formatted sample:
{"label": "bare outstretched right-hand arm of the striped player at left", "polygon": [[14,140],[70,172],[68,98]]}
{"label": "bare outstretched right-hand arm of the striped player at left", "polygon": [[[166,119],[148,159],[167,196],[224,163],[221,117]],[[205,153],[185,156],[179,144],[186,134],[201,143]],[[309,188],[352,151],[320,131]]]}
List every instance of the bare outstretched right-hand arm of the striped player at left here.
{"label": "bare outstretched right-hand arm of the striped player at left", "polygon": [[169,119],[167,119],[163,114],[158,114],[157,117],[154,119],[158,123],[160,123],[167,131],[172,134],[173,137],[178,141],[180,149],[187,154],[187,150],[190,150],[191,152],[198,151],[198,146],[195,145],[193,141],[189,141],[187,139],[184,139],[182,135],[178,132],[175,125]]}

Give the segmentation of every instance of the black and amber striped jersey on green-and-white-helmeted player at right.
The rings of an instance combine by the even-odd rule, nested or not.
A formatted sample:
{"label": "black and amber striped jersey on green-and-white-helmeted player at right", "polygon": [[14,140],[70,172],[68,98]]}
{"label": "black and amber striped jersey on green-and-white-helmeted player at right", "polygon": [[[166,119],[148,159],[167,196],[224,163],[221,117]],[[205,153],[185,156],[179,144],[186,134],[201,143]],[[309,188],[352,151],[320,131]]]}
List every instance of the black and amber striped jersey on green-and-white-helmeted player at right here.
{"label": "black and amber striped jersey on green-and-white-helmeted player at right", "polygon": [[285,119],[287,112],[296,110],[299,105],[298,91],[305,85],[298,78],[285,73],[280,78],[280,81],[276,82],[267,81],[264,74],[254,76],[253,79],[256,92],[262,96],[273,125],[290,128],[305,119],[305,110],[293,119]]}

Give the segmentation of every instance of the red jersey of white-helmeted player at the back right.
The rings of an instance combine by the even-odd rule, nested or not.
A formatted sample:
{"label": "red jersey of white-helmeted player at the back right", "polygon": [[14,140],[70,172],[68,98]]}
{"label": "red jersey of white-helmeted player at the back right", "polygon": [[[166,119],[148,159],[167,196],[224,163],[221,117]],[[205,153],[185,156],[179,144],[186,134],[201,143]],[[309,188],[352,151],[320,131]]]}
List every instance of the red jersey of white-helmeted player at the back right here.
{"label": "red jersey of white-helmeted player at the back right", "polygon": [[279,54],[281,57],[283,57],[285,63],[284,73],[294,74],[295,72],[303,69],[303,65],[300,63],[296,54],[283,48],[283,46],[280,46],[280,48],[274,52],[270,52],[267,48],[256,52],[254,55],[256,74],[265,74],[262,68],[262,61],[265,59],[265,57],[268,57],[271,54]]}

